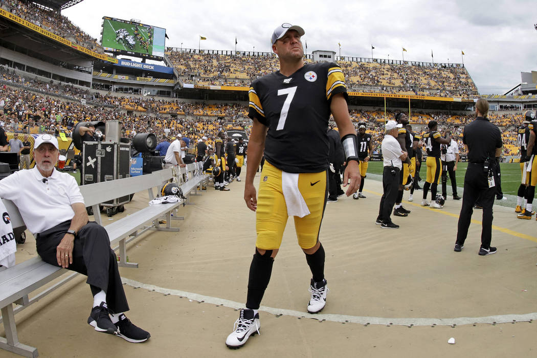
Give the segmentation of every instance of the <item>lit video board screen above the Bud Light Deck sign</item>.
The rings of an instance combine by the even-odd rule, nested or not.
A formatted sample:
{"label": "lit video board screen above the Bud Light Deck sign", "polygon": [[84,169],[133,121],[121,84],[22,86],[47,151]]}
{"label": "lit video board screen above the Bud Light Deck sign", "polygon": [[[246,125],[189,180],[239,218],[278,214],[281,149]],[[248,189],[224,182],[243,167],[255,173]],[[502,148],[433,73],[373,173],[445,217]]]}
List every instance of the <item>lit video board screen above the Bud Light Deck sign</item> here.
{"label": "lit video board screen above the Bud Light Deck sign", "polygon": [[166,29],[103,17],[101,45],[106,51],[162,60]]}

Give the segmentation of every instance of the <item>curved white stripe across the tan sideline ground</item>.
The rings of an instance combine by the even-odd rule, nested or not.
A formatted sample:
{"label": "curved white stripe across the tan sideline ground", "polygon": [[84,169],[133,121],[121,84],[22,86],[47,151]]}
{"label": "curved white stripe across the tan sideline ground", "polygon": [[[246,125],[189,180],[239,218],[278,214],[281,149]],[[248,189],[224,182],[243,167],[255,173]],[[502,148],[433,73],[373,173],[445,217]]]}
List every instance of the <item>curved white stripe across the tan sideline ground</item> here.
{"label": "curved white stripe across the tan sideline ground", "polygon": [[[174,290],[169,288],[163,288],[154,286],[152,284],[146,284],[137,282],[134,280],[121,277],[121,281],[128,286],[135,288],[143,288],[148,291],[155,291],[164,295],[173,295],[190,298],[193,301],[211,303],[221,306],[226,306],[233,309],[244,308],[244,304],[235,301],[229,301],[229,299],[223,299],[218,297],[204,296],[187,291]],[[305,308],[305,307],[304,307]],[[401,325],[401,326],[453,326],[453,325],[468,325],[468,324],[500,324],[500,323],[513,323],[513,322],[529,322],[530,320],[537,319],[537,312],[526,313],[525,315],[499,315],[499,316],[487,316],[487,317],[458,317],[458,318],[384,318],[384,317],[364,317],[364,316],[347,316],[347,315],[331,315],[317,313],[311,315],[307,312],[284,310],[279,308],[272,308],[261,306],[260,311],[271,313],[272,315],[285,315],[290,317],[304,317],[313,318],[317,320],[326,320],[331,322],[340,323],[358,323],[358,324],[378,324],[378,325]]]}

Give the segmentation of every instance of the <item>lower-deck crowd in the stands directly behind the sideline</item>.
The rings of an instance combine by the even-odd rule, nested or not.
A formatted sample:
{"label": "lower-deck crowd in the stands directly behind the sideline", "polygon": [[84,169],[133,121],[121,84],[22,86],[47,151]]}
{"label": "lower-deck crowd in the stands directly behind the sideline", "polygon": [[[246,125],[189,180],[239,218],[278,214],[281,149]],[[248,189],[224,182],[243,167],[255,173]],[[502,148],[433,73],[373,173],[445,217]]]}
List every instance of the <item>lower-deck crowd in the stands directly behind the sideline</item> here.
{"label": "lower-deck crowd in the stands directly behind the sideline", "polygon": [[[136,133],[151,132],[159,138],[172,138],[178,133],[198,141],[202,136],[214,143],[219,130],[230,128],[249,129],[250,119],[246,116],[243,104],[208,104],[205,102],[186,102],[144,96],[113,96],[98,91],[84,90],[60,82],[42,82],[22,77],[16,71],[0,66],[0,111],[5,116],[0,119],[8,131],[27,131],[31,133],[48,132],[71,135],[72,128],[79,121],[122,121],[124,136],[132,138]],[[87,100],[83,104],[82,100]],[[373,136],[374,151],[380,150],[384,137],[384,119],[394,118],[396,112],[384,113],[382,108],[352,109],[351,119],[355,125],[359,121],[367,123],[367,131]],[[491,113],[490,119],[502,129],[505,143],[503,155],[517,155],[518,143],[516,128],[521,113]],[[439,111],[414,112],[410,123],[415,130],[426,130],[430,120],[440,124],[443,133],[449,132],[459,138],[461,153],[462,129],[473,120],[472,115],[461,115]]]}

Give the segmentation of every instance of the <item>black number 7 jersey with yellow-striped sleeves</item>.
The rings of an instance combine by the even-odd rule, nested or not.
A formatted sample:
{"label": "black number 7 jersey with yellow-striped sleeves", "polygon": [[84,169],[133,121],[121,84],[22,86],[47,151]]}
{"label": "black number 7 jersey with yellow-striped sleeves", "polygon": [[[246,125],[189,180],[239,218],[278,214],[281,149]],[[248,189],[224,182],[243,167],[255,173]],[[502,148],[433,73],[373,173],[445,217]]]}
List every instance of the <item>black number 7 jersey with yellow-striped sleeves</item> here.
{"label": "black number 7 jersey with yellow-striped sleeves", "polygon": [[252,82],[250,118],[269,127],[265,160],[289,173],[317,173],[328,168],[330,103],[347,89],[335,63],[305,64],[286,77],[279,71]]}

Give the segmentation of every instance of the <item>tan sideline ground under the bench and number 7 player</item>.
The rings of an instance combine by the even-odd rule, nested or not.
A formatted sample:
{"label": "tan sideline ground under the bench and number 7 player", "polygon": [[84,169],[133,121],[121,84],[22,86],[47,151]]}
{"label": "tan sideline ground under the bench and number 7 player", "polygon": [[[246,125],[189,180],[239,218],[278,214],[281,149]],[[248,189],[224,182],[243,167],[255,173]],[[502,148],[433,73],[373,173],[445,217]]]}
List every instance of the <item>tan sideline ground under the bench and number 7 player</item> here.
{"label": "tan sideline ground under the bench and number 7 player", "polygon": [[[263,299],[261,335],[228,349],[255,244],[243,182],[229,187],[194,196],[194,205],[180,209],[185,220],[173,222],[180,232],[149,232],[129,244],[129,261],[140,268],[120,268],[127,316],[151,332],[148,342],[129,344],[86,324],[92,298],[84,277],[19,313],[20,341],[43,357],[504,357],[537,350],[536,323],[513,322],[537,318],[537,222],[495,206],[498,253],[480,257],[476,211],[465,248],[455,253],[461,201],[449,197],[441,210],[404,202],[412,213],[393,218],[401,229],[381,229],[374,224],[382,191],[375,180],[366,182],[367,199],[327,204],[320,239],[330,291],[322,314],[305,313],[311,274],[289,220]],[[103,220],[146,205],[147,194],[138,193],[125,213]],[[28,235],[17,262],[33,255]],[[15,355],[0,350],[4,356]]]}

